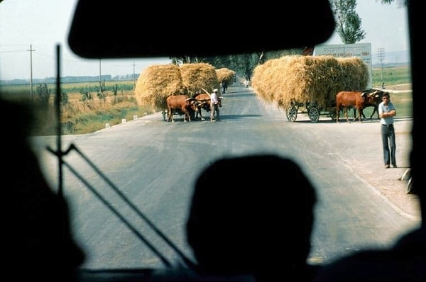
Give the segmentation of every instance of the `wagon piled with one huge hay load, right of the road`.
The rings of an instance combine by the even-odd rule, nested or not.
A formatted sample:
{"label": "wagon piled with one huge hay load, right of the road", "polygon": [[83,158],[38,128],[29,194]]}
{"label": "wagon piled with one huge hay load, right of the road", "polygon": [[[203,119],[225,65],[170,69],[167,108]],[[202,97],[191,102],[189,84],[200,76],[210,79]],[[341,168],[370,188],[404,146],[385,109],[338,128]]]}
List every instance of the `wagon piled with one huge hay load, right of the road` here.
{"label": "wagon piled with one huge hay load, right of the road", "polygon": [[268,60],[254,69],[251,85],[266,103],[275,103],[294,122],[307,113],[312,123],[320,115],[336,119],[339,91],[366,89],[368,67],[359,57],[290,55]]}

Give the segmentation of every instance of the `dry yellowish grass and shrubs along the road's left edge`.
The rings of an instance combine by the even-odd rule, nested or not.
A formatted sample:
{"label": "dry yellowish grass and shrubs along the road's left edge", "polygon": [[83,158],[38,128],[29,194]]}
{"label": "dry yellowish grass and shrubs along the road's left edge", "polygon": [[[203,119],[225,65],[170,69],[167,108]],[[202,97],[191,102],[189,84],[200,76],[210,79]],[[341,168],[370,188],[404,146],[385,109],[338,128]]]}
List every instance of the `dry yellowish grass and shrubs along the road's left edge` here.
{"label": "dry yellowish grass and shrubs along the road's left edge", "polygon": [[[63,92],[62,92],[63,93]],[[106,96],[99,98],[89,95],[82,98],[82,94],[67,94],[67,102],[61,103],[60,122],[62,135],[78,135],[104,129],[122,123],[122,120],[133,120],[133,117],[141,117],[153,113],[148,107],[139,106],[133,90],[121,91],[114,96],[110,91],[104,92]],[[33,111],[33,124],[31,134],[35,136],[57,135],[58,116],[55,109],[55,95],[51,95],[48,105],[43,104],[40,98],[23,95],[21,92],[4,93],[5,98],[27,105]]]}

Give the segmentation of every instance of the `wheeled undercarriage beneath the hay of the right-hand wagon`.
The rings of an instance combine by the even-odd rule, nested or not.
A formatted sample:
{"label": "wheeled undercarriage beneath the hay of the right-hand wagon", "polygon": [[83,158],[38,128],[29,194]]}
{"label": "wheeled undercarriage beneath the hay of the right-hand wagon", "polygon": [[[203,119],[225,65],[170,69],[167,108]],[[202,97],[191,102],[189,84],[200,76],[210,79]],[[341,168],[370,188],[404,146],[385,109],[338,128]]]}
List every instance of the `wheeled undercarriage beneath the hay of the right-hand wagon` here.
{"label": "wheeled undercarriage beneath the hay of the right-hand wagon", "polygon": [[326,101],[325,105],[320,105],[317,102],[305,102],[291,101],[288,107],[285,109],[285,115],[288,121],[294,122],[297,118],[297,114],[307,113],[312,123],[317,123],[320,119],[320,115],[327,115],[332,120],[336,120],[336,101]]}

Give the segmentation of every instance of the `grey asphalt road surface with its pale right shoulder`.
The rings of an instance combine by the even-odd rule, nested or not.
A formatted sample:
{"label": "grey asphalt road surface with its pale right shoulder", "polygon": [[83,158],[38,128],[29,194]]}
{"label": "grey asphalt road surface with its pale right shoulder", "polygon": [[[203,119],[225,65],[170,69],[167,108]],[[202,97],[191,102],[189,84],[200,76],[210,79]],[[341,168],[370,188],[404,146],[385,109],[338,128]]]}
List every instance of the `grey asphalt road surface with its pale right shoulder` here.
{"label": "grey asphalt road surface with its pale right shoulder", "polygon": [[[325,114],[312,123],[300,113],[292,123],[252,89],[234,85],[228,90],[219,122],[183,122],[177,115],[175,123],[168,123],[161,113],[154,113],[62,138],[62,150],[70,145],[78,150],[63,158],[62,184],[71,203],[73,230],[87,252],[84,267],[163,267],[158,254],[177,264],[179,256],[146,219],[192,259],[185,241],[192,186],[200,170],[222,156],[272,152],[302,166],[320,198],[312,263],[329,262],[368,246],[387,247],[420,224],[417,198],[406,194],[400,181],[409,167],[410,118],[395,120],[398,169],[384,169],[378,120],[335,123]],[[36,137],[34,144],[46,177],[57,188],[58,159],[45,149],[56,150],[56,138]],[[239,177],[247,177],[238,168],[235,176],[223,181],[238,185]],[[291,175],[283,171],[271,177],[283,191],[283,205],[290,204],[285,191],[297,189]],[[284,221],[277,225],[288,232],[294,228]]]}

